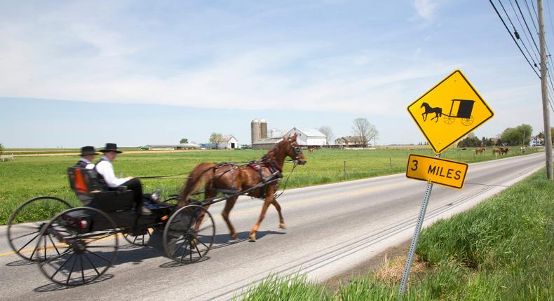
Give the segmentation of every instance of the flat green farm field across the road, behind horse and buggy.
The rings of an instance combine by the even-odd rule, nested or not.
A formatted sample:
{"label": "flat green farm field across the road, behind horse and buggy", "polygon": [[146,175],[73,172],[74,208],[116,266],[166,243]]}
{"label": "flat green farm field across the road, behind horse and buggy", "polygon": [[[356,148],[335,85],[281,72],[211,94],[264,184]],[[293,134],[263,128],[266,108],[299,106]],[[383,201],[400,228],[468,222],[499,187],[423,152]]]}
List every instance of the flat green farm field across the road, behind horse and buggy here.
{"label": "flat green farm field across the road, behind horse and buggy", "polygon": [[[114,162],[116,174],[123,176],[164,176],[184,174],[200,162],[241,162],[260,158],[265,151],[196,151],[183,153],[125,154]],[[288,187],[312,186],[322,183],[363,179],[371,176],[405,172],[407,155],[431,155],[430,149],[336,150],[323,149],[306,153],[308,164],[297,167]],[[529,151],[527,152],[529,153]],[[508,156],[519,155],[512,151]],[[14,161],[0,162],[0,224],[8,221],[11,213],[31,197],[52,195],[79,205],[69,190],[66,169],[74,165],[76,156],[16,157]],[[446,158],[463,162],[492,160],[492,151],[475,155],[473,150],[450,150]],[[346,171],[344,170],[346,162]],[[285,165],[286,173],[292,165]],[[144,180],[144,191],[162,188],[164,195],[178,193],[183,179]]]}

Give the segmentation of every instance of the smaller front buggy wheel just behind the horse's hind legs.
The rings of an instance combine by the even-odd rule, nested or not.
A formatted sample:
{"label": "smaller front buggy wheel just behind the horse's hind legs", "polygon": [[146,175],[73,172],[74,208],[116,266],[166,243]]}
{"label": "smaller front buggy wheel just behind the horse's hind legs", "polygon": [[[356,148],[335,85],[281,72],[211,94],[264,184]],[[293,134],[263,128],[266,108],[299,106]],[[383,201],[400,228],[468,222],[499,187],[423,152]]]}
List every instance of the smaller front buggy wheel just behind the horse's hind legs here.
{"label": "smaller front buggy wheel just behind the horse's hind legs", "polygon": [[214,240],[215,223],[212,215],[198,205],[185,206],[175,211],[163,230],[165,253],[179,263],[192,263],[205,258]]}

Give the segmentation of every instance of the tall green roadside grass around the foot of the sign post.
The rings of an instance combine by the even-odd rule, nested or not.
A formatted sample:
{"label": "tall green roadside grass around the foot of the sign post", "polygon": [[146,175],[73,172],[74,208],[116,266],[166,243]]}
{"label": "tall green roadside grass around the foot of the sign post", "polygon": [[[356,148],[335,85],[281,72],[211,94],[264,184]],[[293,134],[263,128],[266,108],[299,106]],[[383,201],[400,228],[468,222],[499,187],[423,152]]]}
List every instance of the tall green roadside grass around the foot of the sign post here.
{"label": "tall green roadside grass around the foot of the sign post", "polygon": [[[424,230],[421,268],[403,300],[554,300],[554,185],[544,174]],[[387,275],[400,276],[404,262],[391,260],[337,292],[303,276],[271,276],[240,299],[397,300],[399,277]]]}

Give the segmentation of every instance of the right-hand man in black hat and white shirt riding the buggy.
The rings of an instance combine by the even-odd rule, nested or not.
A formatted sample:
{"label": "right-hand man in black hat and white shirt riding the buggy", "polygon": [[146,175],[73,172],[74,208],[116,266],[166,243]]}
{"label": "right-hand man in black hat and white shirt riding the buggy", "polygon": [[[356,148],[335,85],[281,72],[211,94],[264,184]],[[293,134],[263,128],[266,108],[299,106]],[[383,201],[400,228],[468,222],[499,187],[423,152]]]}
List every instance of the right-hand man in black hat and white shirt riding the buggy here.
{"label": "right-hand man in black hat and white shirt riding the buggy", "polygon": [[112,162],[116,160],[117,155],[121,153],[121,151],[117,150],[117,145],[106,144],[106,147],[100,150],[100,152],[104,153],[104,155],[100,158],[100,161],[96,163],[95,169],[96,172],[102,176],[107,186],[111,188],[126,186],[127,189],[133,190],[136,208],[139,209],[142,207],[141,210],[144,215],[151,214],[151,211],[147,207],[142,206],[142,184],[140,180],[132,176],[118,179],[114,173]]}

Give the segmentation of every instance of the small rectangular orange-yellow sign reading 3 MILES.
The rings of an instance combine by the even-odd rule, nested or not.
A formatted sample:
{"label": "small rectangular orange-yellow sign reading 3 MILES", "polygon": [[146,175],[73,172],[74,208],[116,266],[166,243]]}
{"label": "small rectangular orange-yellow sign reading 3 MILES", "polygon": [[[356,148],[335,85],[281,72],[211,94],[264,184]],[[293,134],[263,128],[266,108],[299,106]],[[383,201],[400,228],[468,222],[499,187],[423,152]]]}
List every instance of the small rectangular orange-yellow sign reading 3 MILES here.
{"label": "small rectangular orange-yellow sign reading 3 MILES", "polygon": [[464,187],[467,171],[466,163],[424,155],[410,155],[406,177],[461,189]]}

